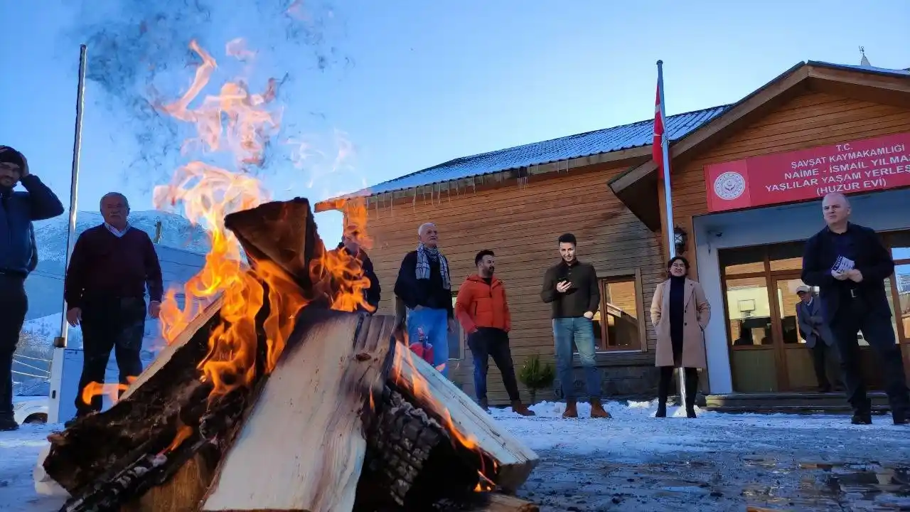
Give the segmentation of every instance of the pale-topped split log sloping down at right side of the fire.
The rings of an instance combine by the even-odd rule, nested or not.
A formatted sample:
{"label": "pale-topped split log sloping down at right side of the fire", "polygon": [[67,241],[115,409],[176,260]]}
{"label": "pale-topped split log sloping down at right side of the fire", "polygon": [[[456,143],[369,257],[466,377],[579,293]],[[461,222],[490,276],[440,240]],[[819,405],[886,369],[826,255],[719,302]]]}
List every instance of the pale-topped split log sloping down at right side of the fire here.
{"label": "pale-topped split log sloping down at right side of the fire", "polygon": [[450,430],[456,442],[480,456],[484,476],[510,492],[524,484],[540,461],[537,454],[407,347],[399,343],[396,353],[395,383],[408,389],[414,403]]}

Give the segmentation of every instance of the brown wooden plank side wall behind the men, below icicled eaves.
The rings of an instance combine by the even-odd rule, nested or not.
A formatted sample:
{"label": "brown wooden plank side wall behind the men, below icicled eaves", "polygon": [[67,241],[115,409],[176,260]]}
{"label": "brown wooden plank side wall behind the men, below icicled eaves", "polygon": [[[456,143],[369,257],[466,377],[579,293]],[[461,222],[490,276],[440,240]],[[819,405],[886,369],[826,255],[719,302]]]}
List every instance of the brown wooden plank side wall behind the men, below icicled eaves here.
{"label": "brown wooden plank side wall behind the men, below icicled eaves", "polygon": [[[482,249],[496,252],[496,271],[506,285],[512,315],[511,352],[516,372],[525,357],[540,354],[554,363],[550,305],[541,302],[541,282],[546,269],[559,261],[556,239],[564,232],[578,238],[579,259],[591,262],[601,278],[642,274],[642,304],[651,303],[654,287],[663,278],[658,235],[632,215],[607,186],[623,169],[591,166],[568,174],[531,177],[519,186],[503,183],[495,189],[462,193],[451,199],[396,201],[379,210],[369,209],[369,251],[379,282],[379,312],[394,312],[392,292],[401,258],[417,244],[421,223],[435,222],[440,247],[450,261],[453,292],[474,269],[474,255]],[[632,302],[633,303],[633,302]],[[640,318],[647,322],[647,315]],[[646,331],[649,350],[644,353],[609,353],[599,361],[612,364],[652,364],[653,331]],[[470,351],[451,362],[450,378],[473,395]],[[522,399],[527,400],[521,388]],[[507,402],[501,375],[490,361],[488,397],[491,404]],[[546,390],[538,399],[551,397]]]}

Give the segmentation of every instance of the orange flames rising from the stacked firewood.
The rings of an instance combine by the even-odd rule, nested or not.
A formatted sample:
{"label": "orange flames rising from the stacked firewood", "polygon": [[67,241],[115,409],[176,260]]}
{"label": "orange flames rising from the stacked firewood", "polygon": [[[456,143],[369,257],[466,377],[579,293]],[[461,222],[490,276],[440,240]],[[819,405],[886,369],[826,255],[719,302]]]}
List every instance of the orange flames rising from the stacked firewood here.
{"label": "orange flames rising from the stacked firewood", "polygon": [[[258,313],[268,301],[268,316],[262,322],[266,340],[265,370],[271,372],[294,328],[294,319],[307,305],[298,284],[269,261],[257,261],[252,269],[243,261],[237,238],[224,226],[229,213],[249,210],[270,200],[261,183],[246,170],[261,166],[263,152],[280,125],[280,110],[269,110],[277,94],[277,82],[268,81],[262,94],[249,94],[242,81],[227,82],[218,96],[207,96],[201,105],[190,105],[207,86],[217,62],[196,41],[190,48],[201,58],[193,83],[186,94],[157,108],[173,118],[191,123],[197,131],[193,141],[207,151],[228,150],[241,171],[231,172],[201,161],[177,169],[168,185],[155,189],[159,209],[182,206],[191,222],[207,228],[211,249],[201,271],[184,286],[184,306],[177,303],[177,292],[169,291],[161,307],[162,336],[173,343],[177,335],[197,316],[207,302],[223,298],[220,322],[208,338],[208,353],[199,364],[202,379],[213,384],[209,398],[226,394],[250,384],[257,376]],[[230,41],[227,55],[251,58],[242,39]],[[187,144],[184,145],[187,148]],[[359,243],[368,243],[367,209],[363,200],[344,205],[348,211],[345,232]],[[331,307],[355,311],[366,306],[363,291],[369,279],[363,276],[360,262],[347,251],[322,251],[309,269],[314,282],[330,276],[334,283]],[[335,290],[337,289],[337,290]],[[368,308],[370,309],[370,308]]]}

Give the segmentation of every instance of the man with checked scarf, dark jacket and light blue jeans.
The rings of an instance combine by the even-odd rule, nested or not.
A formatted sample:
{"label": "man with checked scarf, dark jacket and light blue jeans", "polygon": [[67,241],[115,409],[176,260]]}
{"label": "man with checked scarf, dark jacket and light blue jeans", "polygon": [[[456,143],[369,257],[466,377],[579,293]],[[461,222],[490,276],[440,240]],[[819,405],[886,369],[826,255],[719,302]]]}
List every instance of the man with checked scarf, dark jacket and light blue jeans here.
{"label": "man with checked scarf, dark jacket and light blue jeans", "polygon": [[401,261],[395,312],[399,324],[407,320],[410,343],[423,332],[433,346],[433,365],[448,376],[449,333],[455,331],[449,261],[440,253],[435,224],[420,225],[417,236],[417,251],[410,251]]}

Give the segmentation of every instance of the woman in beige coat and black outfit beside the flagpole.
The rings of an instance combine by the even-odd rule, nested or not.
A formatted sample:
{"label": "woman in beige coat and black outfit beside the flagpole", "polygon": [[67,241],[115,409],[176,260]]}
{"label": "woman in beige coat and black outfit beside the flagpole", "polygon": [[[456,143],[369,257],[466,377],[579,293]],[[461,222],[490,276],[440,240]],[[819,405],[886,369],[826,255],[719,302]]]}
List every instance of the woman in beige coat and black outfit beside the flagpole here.
{"label": "woman in beige coat and black outfit beside the flagpole", "polygon": [[711,305],[702,285],[686,277],[689,261],[676,256],[667,263],[670,279],[657,285],[651,302],[651,323],[657,333],[654,363],[661,368],[657,386],[657,417],[667,416],[673,368],[684,368],[686,416],[695,417],[698,368],[704,368],[704,328],[711,319]]}

